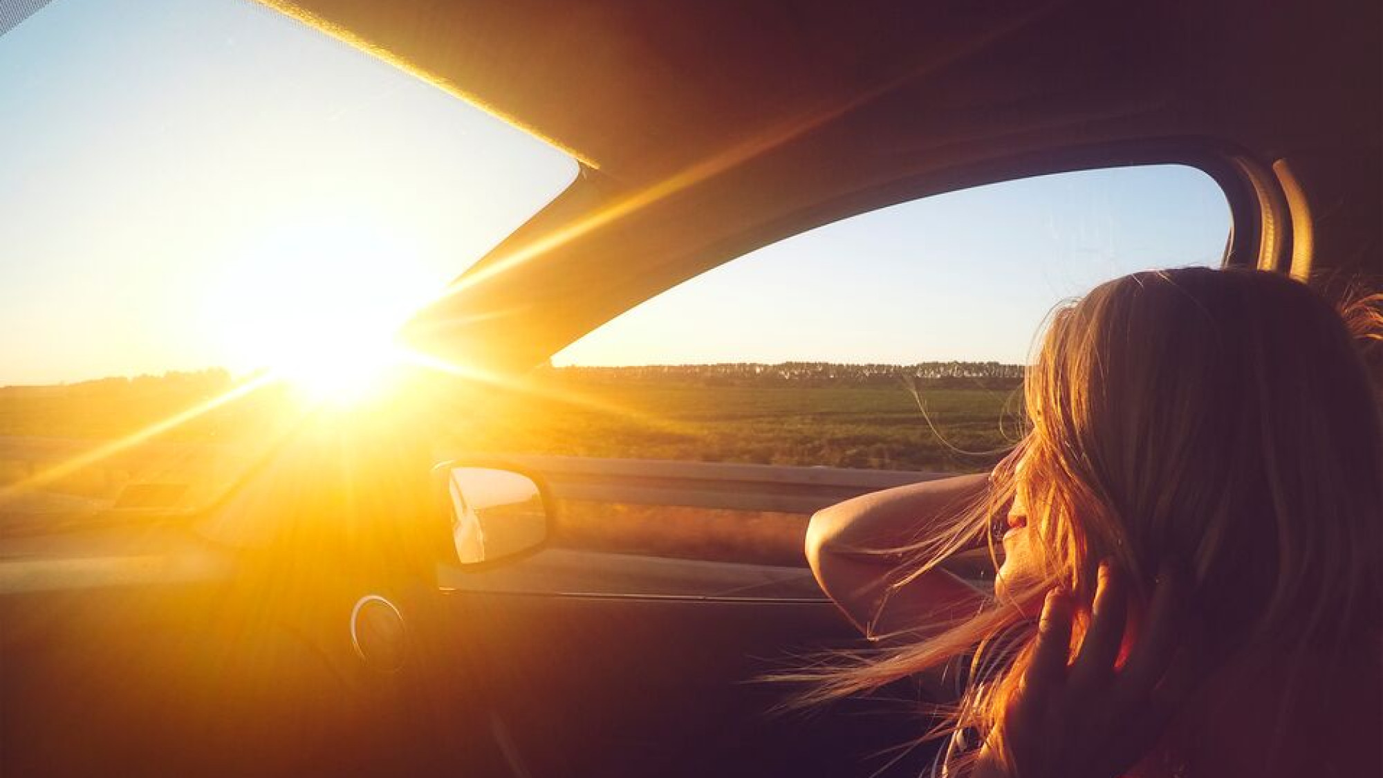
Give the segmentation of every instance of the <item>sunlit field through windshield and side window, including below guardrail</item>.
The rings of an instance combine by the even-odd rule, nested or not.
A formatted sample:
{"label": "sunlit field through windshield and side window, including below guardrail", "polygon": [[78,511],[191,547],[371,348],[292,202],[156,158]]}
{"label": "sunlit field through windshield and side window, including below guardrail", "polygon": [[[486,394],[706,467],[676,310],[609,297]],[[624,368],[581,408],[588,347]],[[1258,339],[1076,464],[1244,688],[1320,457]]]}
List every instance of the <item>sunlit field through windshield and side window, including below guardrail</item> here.
{"label": "sunlit field through windshield and side window, including below guardrail", "polygon": [[[555,454],[968,472],[993,465],[1018,439],[1021,381],[1012,375],[906,379],[892,372],[877,365],[544,370],[508,389],[411,385],[368,417],[397,418],[436,457]],[[212,371],[0,388],[0,444],[10,440],[11,453],[22,453],[33,437],[100,446],[205,404],[231,385],[228,375]],[[243,469],[216,451],[281,439],[303,413],[284,390],[264,389],[171,426],[133,457],[64,473],[39,493],[24,490],[28,503],[8,509],[100,509],[126,500],[130,485],[151,483],[188,485],[181,500],[203,504]],[[0,487],[50,465],[0,458]],[[555,532],[556,543],[577,548],[801,565],[805,522],[786,514],[564,501]]]}

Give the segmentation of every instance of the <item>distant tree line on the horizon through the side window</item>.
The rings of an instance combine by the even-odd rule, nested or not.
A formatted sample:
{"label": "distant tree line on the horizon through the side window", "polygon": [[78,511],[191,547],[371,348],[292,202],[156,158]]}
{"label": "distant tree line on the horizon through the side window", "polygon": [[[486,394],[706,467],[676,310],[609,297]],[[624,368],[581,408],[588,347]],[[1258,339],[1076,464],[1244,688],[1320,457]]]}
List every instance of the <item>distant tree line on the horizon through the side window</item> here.
{"label": "distant tree line on the horizon through the side window", "polygon": [[852,386],[925,382],[932,386],[1015,386],[1023,365],[997,361],[927,361],[917,364],[841,364],[788,361],[780,364],[649,364],[625,367],[548,367],[556,378],[584,382],[701,383],[705,386]]}

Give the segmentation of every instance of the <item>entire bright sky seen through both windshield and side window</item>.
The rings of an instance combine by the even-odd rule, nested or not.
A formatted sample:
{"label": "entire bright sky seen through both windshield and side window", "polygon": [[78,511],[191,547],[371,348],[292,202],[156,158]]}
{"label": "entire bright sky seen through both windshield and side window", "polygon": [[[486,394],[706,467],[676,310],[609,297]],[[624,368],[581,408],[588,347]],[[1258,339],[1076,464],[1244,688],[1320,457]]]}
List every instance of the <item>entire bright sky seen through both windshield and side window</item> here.
{"label": "entire bright sky seen through both windshield and side window", "polygon": [[[0,383],[383,332],[577,173],[248,0],[54,0],[0,37]],[[556,361],[1022,361],[1058,299],[1217,263],[1228,223],[1187,168],[942,195],[741,257]]]}

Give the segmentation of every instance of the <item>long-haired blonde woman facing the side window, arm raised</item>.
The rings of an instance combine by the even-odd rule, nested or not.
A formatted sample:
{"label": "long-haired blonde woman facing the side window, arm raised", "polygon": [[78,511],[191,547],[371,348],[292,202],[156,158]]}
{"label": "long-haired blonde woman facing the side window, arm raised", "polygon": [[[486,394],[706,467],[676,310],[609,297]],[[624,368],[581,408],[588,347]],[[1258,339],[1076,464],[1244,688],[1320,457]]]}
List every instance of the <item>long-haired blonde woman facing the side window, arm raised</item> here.
{"label": "long-haired blonde woman facing the side window, arm raised", "polygon": [[[1274,273],[1138,273],[1055,314],[1025,399],[989,479],[813,516],[885,646],[816,696],[967,655],[950,775],[1383,775],[1383,432],[1342,316]],[[996,516],[990,595],[938,565]]]}

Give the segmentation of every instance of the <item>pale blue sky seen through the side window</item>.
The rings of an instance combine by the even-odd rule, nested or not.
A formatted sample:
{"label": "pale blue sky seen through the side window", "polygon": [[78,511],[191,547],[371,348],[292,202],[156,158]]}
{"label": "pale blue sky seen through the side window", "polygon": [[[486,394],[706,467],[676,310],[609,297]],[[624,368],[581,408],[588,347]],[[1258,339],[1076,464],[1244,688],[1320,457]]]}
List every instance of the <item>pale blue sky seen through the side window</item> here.
{"label": "pale blue sky seen through the side window", "polygon": [[819,227],[613,320],[556,364],[1023,364],[1059,302],[1137,270],[1218,266],[1220,187],[1194,168],[1005,181]]}

